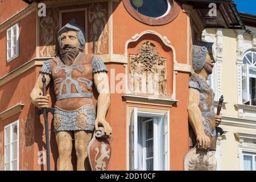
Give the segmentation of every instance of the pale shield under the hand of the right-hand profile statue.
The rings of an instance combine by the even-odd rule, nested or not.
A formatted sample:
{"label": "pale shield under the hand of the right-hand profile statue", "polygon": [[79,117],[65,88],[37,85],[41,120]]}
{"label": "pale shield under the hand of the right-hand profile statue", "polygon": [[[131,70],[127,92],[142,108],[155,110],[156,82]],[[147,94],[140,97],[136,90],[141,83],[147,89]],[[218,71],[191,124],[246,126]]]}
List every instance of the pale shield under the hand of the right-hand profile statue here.
{"label": "pale shield under the hand of the right-hand profile statue", "polygon": [[197,145],[184,158],[184,171],[216,171],[215,151],[200,149]]}

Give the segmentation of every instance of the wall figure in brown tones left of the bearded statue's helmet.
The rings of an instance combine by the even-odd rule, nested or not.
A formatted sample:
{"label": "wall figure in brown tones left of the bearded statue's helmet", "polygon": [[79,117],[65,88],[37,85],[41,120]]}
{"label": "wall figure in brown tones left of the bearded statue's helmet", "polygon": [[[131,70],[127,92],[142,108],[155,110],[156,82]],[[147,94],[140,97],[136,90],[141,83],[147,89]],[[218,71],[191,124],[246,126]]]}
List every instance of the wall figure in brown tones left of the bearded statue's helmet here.
{"label": "wall figure in brown tones left of the bearded statue's helmet", "polygon": [[54,30],[59,26],[57,10],[48,10],[48,15],[40,20],[40,37],[43,39],[43,49],[40,51],[42,57],[54,57],[56,55],[56,41]]}

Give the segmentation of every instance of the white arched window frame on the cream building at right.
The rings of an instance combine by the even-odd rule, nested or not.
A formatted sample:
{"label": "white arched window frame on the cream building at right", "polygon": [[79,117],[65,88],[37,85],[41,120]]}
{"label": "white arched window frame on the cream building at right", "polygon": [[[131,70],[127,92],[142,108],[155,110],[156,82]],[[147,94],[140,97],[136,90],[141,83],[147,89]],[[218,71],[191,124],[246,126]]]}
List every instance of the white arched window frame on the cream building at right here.
{"label": "white arched window frame on the cream building at right", "polygon": [[[243,89],[243,86],[242,86],[242,103],[243,104],[246,104],[246,102],[249,102],[249,105],[251,105],[251,93],[250,93],[250,77],[254,77],[256,78],[256,75],[250,75],[250,69],[255,69],[256,70],[256,62],[253,64],[253,63],[250,63],[251,60],[249,60],[246,55],[251,53],[251,60],[253,60],[254,58],[254,54],[256,54],[255,51],[247,51],[244,55],[243,55],[243,58],[242,58],[242,61],[243,59],[246,58],[246,64],[242,64],[242,85],[243,85],[243,76],[245,76],[245,80],[246,80],[246,89]],[[243,70],[246,70],[246,72],[243,72]],[[246,101],[243,101],[243,92],[246,92],[246,98],[247,100]]]}

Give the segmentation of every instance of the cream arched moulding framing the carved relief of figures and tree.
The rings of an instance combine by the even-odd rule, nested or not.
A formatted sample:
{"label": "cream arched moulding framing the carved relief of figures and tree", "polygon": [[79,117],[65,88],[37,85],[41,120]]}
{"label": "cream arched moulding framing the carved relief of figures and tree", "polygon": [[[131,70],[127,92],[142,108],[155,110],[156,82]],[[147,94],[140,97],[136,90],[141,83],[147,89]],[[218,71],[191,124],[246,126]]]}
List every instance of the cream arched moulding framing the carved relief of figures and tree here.
{"label": "cream arched moulding framing the carved relief of figures and tree", "polygon": [[[176,51],[175,51],[175,48],[171,45],[171,41],[168,40],[166,36],[162,36],[158,32],[152,31],[152,30],[146,30],[146,31],[141,32],[140,34],[135,34],[133,37],[131,37],[131,39],[127,40],[126,43],[125,43],[125,57],[126,57],[127,63],[128,63],[128,46],[129,46],[129,43],[137,42],[137,40],[139,40],[143,35],[146,35],[146,34],[154,34],[154,35],[158,36],[162,40],[164,45],[166,45],[167,47],[172,49],[173,59],[174,59],[174,73],[173,73],[174,75],[173,75],[173,85],[172,85],[171,99],[175,100],[175,98],[176,98],[176,87],[175,87],[175,85],[176,85],[176,74],[177,74],[177,71],[178,71],[178,69],[175,69],[175,64],[177,64]],[[190,69],[190,68],[188,68],[188,69]],[[126,94],[129,94],[127,64],[126,64],[126,69],[125,69],[125,75],[126,75]]]}

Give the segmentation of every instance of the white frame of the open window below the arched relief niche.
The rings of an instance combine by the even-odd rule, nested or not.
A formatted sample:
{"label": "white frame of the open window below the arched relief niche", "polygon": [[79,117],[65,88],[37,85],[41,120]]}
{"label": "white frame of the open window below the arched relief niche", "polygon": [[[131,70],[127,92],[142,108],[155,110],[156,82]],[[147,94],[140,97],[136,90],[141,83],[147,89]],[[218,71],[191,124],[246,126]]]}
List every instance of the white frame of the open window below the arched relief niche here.
{"label": "white frame of the open window below the arched relief niche", "polygon": [[[138,116],[139,117],[150,117],[150,118],[161,118],[164,122],[164,133],[163,137],[166,138],[164,140],[164,170],[170,171],[170,119],[169,119],[169,111],[166,113],[151,113],[138,111],[137,107],[134,107],[131,112],[131,124],[130,124],[130,170],[138,170]],[[154,119],[154,125],[156,125],[157,119]],[[158,131],[154,130],[154,135],[158,135]],[[154,140],[154,145],[156,146],[156,140]],[[155,155],[155,154],[154,154]],[[158,154],[156,154],[158,155]],[[158,170],[158,160],[154,158],[154,170]]]}

